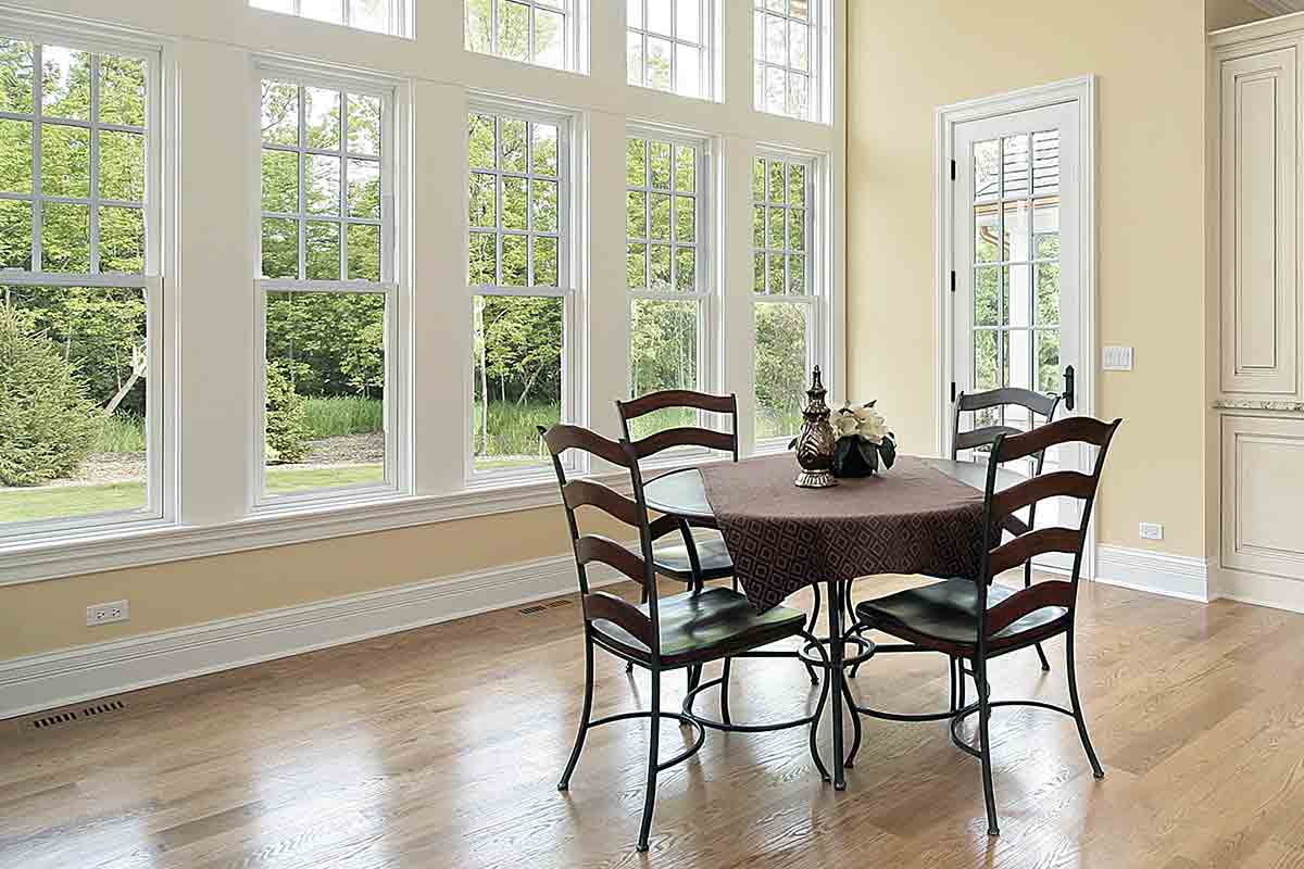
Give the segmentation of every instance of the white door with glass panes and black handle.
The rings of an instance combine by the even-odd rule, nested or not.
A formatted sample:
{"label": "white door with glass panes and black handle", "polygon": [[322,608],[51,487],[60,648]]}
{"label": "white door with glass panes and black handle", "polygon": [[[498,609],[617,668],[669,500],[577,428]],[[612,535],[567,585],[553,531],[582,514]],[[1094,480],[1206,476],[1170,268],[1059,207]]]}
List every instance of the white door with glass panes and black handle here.
{"label": "white door with glass panes and black handle", "polygon": [[[952,129],[955,392],[1021,387],[1063,395],[1056,418],[1081,412],[1074,379],[1088,360],[1078,347],[1085,251],[1078,250],[1080,178],[1073,159],[1077,106],[1011,112]],[[1021,408],[991,408],[964,414],[960,426],[1026,430],[1043,422]],[[1086,470],[1089,460],[1085,448],[1054,448],[1043,473]],[[1031,463],[1015,469],[1031,473]],[[1076,528],[1080,507],[1073,499],[1043,502],[1037,525]],[[1047,567],[1067,565],[1047,558]]]}

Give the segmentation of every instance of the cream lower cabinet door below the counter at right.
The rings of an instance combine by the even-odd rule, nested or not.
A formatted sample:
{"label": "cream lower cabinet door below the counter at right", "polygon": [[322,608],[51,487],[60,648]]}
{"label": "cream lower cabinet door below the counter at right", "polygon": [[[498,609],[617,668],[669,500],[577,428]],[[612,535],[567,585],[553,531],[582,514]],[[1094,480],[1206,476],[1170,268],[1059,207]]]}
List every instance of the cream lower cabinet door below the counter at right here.
{"label": "cream lower cabinet door below the counter at right", "polygon": [[1223,417],[1222,563],[1304,578],[1304,420]]}

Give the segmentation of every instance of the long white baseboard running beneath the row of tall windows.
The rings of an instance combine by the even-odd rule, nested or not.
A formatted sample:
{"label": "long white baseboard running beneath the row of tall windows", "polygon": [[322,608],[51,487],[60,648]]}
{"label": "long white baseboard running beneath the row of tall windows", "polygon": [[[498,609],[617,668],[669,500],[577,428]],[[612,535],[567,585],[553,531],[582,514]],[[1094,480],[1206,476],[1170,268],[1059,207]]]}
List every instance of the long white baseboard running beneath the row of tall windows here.
{"label": "long white baseboard running beneath the row of tall windows", "polygon": [[[619,581],[604,565],[589,585]],[[0,662],[0,719],[578,590],[571,555]],[[579,618],[576,615],[576,618]]]}

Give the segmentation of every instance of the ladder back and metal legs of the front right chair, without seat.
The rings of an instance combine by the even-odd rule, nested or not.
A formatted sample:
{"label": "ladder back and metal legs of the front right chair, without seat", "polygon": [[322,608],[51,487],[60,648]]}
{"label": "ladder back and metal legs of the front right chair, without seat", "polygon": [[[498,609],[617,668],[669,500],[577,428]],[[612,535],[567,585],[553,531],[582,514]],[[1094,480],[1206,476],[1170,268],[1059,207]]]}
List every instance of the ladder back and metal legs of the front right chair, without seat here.
{"label": "ladder back and metal legs of the front right chair, without seat", "polygon": [[[1047,423],[1026,434],[999,433],[992,446],[987,466],[987,483],[983,494],[983,550],[977,582],[978,625],[974,641],[964,645],[949,645],[930,640],[901,624],[876,620],[867,607],[874,602],[862,602],[858,607],[858,620],[853,631],[880,631],[906,640],[904,645],[879,645],[876,653],[884,651],[932,651],[945,654],[951,662],[951,701],[945,713],[901,714],[870,709],[852,702],[855,715],[867,715],[893,722],[949,720],[951,740],[957,748],[977,757],[982,762],[983,799],[987,806],[987,833],[999,835],[996,819],[996,799],[991,774],[991,740],[988,722],[991,710],[1005,706],[1025,706],[1046,709],[1071,717],[1077,724],[1078,736],[1091,771],[1095,778],[1104,778],[1104,770],[1091,747],[1086,731],[1086,719],[1077,692],[1077,674],[1073,658],[1073,636],[1077,611],[1077,585],[1082,567],[1082,554],[1088,539],[1088,525],[1091,508],[1104,470],[1104,459],[1115,431],[1121,420],[1104,423],[1085,417],[1071,417],[1060,422]],[[996,470],[1001,464],[1045,453],[1048,447],[1063,443],[1089,443],[1098,447],[1095,466],[1091,474],[1076,470],[1060,470],[1052,474],[1033,477],[1003,491],[996,491]],[[1082,519],[1077,529],[1068,528],[1024,528],[1013,539],[1001,542],[1003,534],[1011,530],[1008,520],[1025,507],[1033,507],[1047,498],[1076,498],[1082,500]],[[1046,552],[1073,555],[1073,569],[1068,580],[1047,580],[1015,591],[1012,595],[987,608],[987,589],[992,578],[1003,571],[1026,564],[1034,556]],[[1046,607],[1063,607],[1065,614],[1039,629],[1026,631],[1012,637],[998,638],[1001,631],[1020,619]],[[1065,637],[1065,670],[1071,707],[1056,706],[1034,700],[991,700],[991,685],[987,681],[987,662],[992,658],[1026,649],[1059,634]],[[994,645],[995,644],[995,645]],[[966,661],[969,667],[965,666]],[[965,676],[971,676],[977,700],[966,704]],[[978,714],[978,747],[966,743],[958,734],[961,722]],[[861,748],[861,728],[855,727],[855,737],[848,756],[848,766]]]}

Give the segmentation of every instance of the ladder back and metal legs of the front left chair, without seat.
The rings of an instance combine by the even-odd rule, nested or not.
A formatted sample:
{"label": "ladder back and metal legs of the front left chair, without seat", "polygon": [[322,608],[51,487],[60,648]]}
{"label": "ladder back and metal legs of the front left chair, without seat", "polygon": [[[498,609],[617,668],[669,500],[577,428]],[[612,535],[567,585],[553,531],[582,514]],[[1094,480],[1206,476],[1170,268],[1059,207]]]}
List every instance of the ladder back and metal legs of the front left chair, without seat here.
{"label": "ladder back and metal legs of the front left chair, without seat", "polygon": [[[782,638],[782,636],[799,636],[806,641],[807,646],[816,644],[816,650],[820,651],[822,657],[823,650],[818,648],[816,638],[805,629],[805,623],[802,623],[802,627],[797,631],[785,628],[786,632],[782,636],[745,638],[745,641],[737,641],[739,644],[737,648],[707,649],[703,650],[703,653],[696,658],[691,658],[690,655],[691,659],[689,661],[665,661],[661,651],[661,623],[657,606],[660,595],[657,593],[657,575],[652,563],[652,542],[659,537],[664,537],[665,534],[678,530],[678,521],[669,516],[662,516],[656,521],[648,521],[648,509],[643,495],[643,478],[639,472],[638,453],[634,449],[634,446],[627,440],[615,443],[585,429],[566,425],[557,425],[548,430],[540,426],[539,434],[548,444],[549,452],[553,457],[553,468],[557,472],[557,482],[561,487],[562,503],[566,508],[566,521],[570,526],[571,546],[575,552],[580,601],[584,606],[584,706],[580,713],[579,730],[575,735],[575,745],[571,749],[570,760],[566,762],[566,769],[562,773],[561,780],[557,783],[557,790],[567,791],[570,788],[570,779],[575,771],[575,765],[579,762],[580,752],[584,748],[584,737],[588,735],[588,731],[604,724],[631,719],[645,719],[651,722],[648,728],[649,749],[647,786],[643,801],[643,821],[639,827],[638,840],[638,849],[640,852],[648,849],[648,834],[652,827],[657,775],[661,771],[668,770],[696,754],[705,741],[707,728],[735,732],[769,732],[792,727],[808,727],[811,757],[814,758],[820,774],[828,779],[828,770],[820,758],[816,745],[818,724],[824,713],[824,702],[828,697],[827,680],[824,683],[824,689],[820,692],[814,714],[775,724],[737,727],[722,722],[703,719],[691,713],[691,702],[695,692],[691,692],[685,698],[681,713],[669,713],[661,709],[661,674],[665,671],[696,667],[700,672],[700,667],[704,663],[726,659],[728,655],[751,651],[752,649],[775,642],[776,640]],[[632,483],[632,500],[601,483],[589,479],[567,479],[566,469],[561,460],[562,453],[567,449],[580,449],[605,459],[613,465],[626,468],[630,472]],[[596,508],[618,521],[638,528],[640,554],[634,554],[619,543],[601,535],[580,534],[579,522],[575,517],[575,512],[580,507]],[[639,582],[647,591],[644,605],[647,607],[647,612],[644,614],[639,607],[635,607],[613,594],[591,590],[587,567],[595,562],[612,567],[630,580]],[[692,594],[696,595],[700,594],[700,589],[694,589]],[[609,621],[629,632],[631,636],[638,638],[638,641],[644,646],[644,650],[639,653],[638,650],[626,648],[625,645],[609,638],[601,631],[595,629],[593,623],[597,620]],[[622,661],[635,663],[649,671],[652,677],[652,691],[651,707],[647,711],[621,713],[615,715],[606,715],[597,720],[592,719],[595,648],[601,648]],[[681,655],[681,658],[683,658],[683,655]],[[822,666],[828,666],[827,658]],[[699,685],[698,691],[707,687],[709,687],[709,684]],[[675,719],[681,726],[691,727],[695,731],[692,744],[666,761],[661,761],[659,754],[659,723],[662,718]]]}

